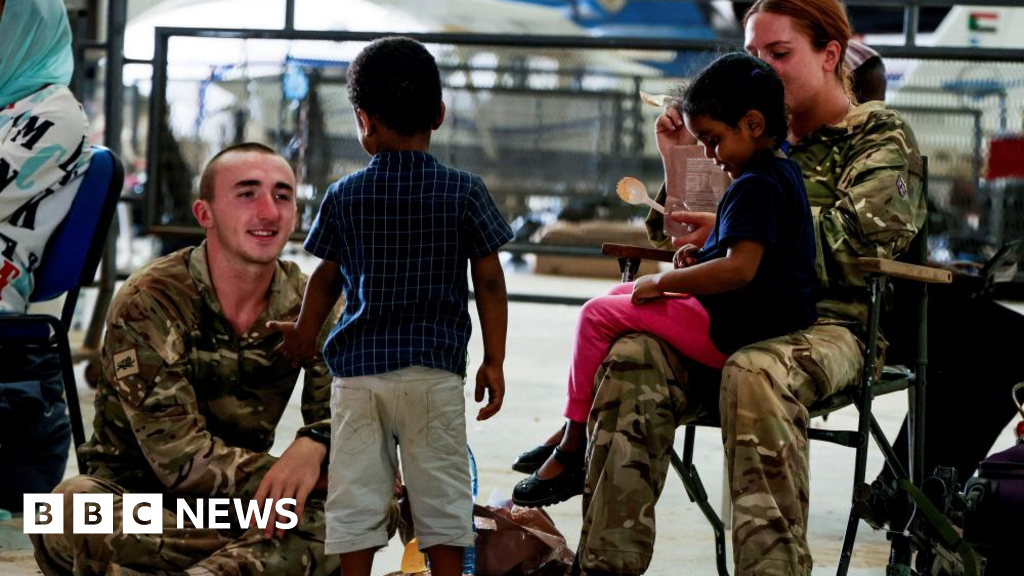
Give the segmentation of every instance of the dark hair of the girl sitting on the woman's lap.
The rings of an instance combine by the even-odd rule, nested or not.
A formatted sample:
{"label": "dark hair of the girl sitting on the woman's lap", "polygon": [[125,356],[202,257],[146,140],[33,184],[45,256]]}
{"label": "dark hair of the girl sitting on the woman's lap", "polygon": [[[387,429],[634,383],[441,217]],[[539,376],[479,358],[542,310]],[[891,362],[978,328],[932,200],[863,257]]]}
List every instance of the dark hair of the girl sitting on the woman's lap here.
{"label": "dark hair of the girl sitting on the woman's lap", "polygon": [[764,60],[732,52],[711,63],[682,92],[680,112],[735,128],[748,112],[765,117],[765,133],[780,147],[788,132],[785,89]]}

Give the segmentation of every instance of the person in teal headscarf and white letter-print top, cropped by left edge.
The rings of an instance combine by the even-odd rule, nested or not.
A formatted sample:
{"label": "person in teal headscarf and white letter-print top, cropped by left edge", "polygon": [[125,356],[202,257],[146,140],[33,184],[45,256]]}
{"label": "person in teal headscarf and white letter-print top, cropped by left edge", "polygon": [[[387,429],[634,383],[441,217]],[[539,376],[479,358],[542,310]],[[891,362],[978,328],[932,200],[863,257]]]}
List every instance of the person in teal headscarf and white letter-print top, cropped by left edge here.
{"label": "person in teal headscarf and white letter-print top, cropped by left edge", "polygon": [[[89,164],[63,2],[0,0],[0,314],[24,314]],[[55,358],[0,346],[0,507],[20,509],[63,477],[71,425]]]}

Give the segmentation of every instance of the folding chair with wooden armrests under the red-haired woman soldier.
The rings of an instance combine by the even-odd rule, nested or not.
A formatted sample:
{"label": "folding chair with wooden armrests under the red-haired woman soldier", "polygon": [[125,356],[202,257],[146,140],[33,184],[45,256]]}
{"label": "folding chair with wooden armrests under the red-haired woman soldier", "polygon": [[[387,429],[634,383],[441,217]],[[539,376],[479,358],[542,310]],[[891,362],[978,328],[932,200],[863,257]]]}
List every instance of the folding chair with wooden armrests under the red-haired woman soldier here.
{"label": "folding chair with wooden armrests under the red-haired woman soldier", "polygon": [[[927,174],[927,159],[925,173]],[[924,179],[927,194],[927,175]],[[860,268],[865,275],[867,291],[869,294],[869,317],[867,326],[867,338],[865,342],[864,368],[860,382],[856,385],[848,386],[846,389],[833,396],[822,399],[808,407],[808,412],[813,418],[824,416],[850,405],[856,406],[860,413],[857,429],[855,430],[830,430],[821,428],[809,428],[808,438],[820,440],[833,444],[839,444],[856,450],[854,458],[853,490],[856,491],[864,483],[867,468],[868,438],[873,438],[876,444],[881,449],[887,465],[895,472],[899,481],[907,481],[913,486],[920,487],[924,481],[924,418],[925,418],[925,368],[928,364],[928,290],[929,283],[949,283],[952,275],[948,271],[938,270],[922,265],[927,261],[927,230],[922,230],[914,241],[910,244],[904,259],[913,262],[906,263],[883,258],[860,258]],[[672,262],[674,252],[671,250],[658,250],[653,248],[641,248],[636,246],[625,246],[621,244],[604,244],[602,253],[618,258],[620,270],[623,275],[623,282],[634,280],[640,261],[644,259]],[[881,372],[878,370],[879,362],[879,338],[881,335],[880,319],[883,308],[883,293],[886,283],[891,279],[905,281],[905,285],[899,287],[900,301],[897,305],[899,310],[900,323],[912,327],[906,334],[911,341],[906,342],[907,360],[905,364],[899,366],[885,366]],[[667,348],[663,345],[663,348]],[[717,384],[717,382],[716,382]],[[910,450],[912,455],[909,472],[897,459],[892,446],[886,439],[882,427],[871,414],[871,401],[874,397],[891,394],[894,392],[907,389],[909,394],[909,420],[910,429]],[[718,566],[718,573],[721,576],[728,576],[728,567],[725,554],[725,529],[721,518],[716,513],[711,503],[708,501],[708,494],[693,465],[693,442],[696,426],[720,427],[721,422],[718,414],[701,418],[686,424],[683,437],[682,457],[673,450],[672,466],[679,475],[686,493],[691,502],[695,502],[711,524],[715,534],[715,554]],[[850,567],[850,560],[853,554],[853,544],[857,537],[857,525],[859,516],[855,509],[856,501],[851,498],[850,518],[847,522],[846,535],[843,540],[842,551],[840,552],[837,574],[845,576]],[[909,539],[905,535],[896,535],[893,538],[893,558],[905,559],[909,562]],[[901,560],[900,562],[903,562]]]}

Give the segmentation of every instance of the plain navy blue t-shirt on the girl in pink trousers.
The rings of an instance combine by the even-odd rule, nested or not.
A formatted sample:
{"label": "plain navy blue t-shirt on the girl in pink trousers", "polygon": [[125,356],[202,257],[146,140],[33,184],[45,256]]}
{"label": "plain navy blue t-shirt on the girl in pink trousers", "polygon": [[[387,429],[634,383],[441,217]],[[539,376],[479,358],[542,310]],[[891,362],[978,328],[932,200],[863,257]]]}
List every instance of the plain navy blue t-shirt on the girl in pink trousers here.
{"label": "plain navy blue t-shirt on the girl in pink trousers", "polygon": [[726,354],[817,320],[814,229],[796,162],[773,157],[732,182],[697,261],[725,256],[740,239],[765,247],[754,280],[738,290],[697,296],[711,318],[712,341]]}

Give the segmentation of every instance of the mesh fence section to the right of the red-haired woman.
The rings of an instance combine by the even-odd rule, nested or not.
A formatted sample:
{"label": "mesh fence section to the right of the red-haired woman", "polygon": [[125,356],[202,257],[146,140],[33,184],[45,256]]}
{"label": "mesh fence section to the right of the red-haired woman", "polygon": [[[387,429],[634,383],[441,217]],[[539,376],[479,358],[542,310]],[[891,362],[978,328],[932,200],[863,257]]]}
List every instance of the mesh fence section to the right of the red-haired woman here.
{"label": "mesh fence section to the right of the red-haired woman", "polygon": [[929,156],[932,253],[984,259],[1024,238],[1024,170],[999,158],[1024,132],[1024,63],[891,58],[887,102]]}

